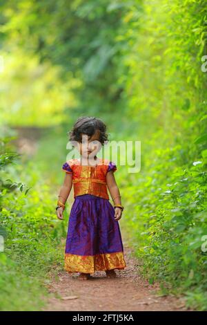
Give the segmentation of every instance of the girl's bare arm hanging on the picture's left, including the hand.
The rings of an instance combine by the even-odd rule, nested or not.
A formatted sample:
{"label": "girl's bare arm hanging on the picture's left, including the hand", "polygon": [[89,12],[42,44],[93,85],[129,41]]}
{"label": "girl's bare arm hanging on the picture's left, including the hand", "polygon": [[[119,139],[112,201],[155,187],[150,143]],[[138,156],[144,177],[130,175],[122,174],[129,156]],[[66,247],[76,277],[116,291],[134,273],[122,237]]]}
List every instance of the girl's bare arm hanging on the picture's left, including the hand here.
{"label": "girl's bare arm hanging on the picture's left, including the hand", "polygon": [[[72,174],[66,173],[63,185],[60,188],[58,201],[65,204],[72,189]],[[63,207],[57,209],[57,217],[63,219]]]}

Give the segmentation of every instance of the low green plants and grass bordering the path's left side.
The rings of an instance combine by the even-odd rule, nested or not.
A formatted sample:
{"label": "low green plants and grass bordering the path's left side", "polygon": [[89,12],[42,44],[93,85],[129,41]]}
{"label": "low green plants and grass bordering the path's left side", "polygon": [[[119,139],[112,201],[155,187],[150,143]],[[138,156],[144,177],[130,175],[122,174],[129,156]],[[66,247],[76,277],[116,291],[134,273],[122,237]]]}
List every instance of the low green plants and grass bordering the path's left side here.
{"label": "low green plants and grass bordering the path's left side", "polygon": [[[3,138],[1,143],[5,142]],[[37,165],[28,162],[23,168],[17,159],[14,165],[14,158],[21,157],[14,152],[8,154],[8,145],[1,147],[0,155],[0,234],[4,239],[0,252],[0,306],[1,310],[39,310],[45,304],[43,295],[48,296],[50,272],[63,266],[63,250],[57,247],[66,237],[66,223],[58,222],[50,187],[41,180]],[[10,186],[5,186],[5,178],[12,174],[17,182],[10,180]],[[19,182],[17,175],[32,186]]]}

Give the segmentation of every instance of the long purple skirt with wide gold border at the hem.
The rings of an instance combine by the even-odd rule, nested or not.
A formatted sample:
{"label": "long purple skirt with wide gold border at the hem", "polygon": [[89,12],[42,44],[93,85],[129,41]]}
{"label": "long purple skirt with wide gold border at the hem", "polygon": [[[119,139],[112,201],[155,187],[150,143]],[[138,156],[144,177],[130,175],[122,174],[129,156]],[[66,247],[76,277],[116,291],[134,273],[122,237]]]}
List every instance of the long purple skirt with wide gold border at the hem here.
{"label": "long purple skirt with wide gold border at the hem", "polygon": [[115,208],[106,198],[75,197],[70,210],[65,266],[68,273],[124,270],[124,248]]}

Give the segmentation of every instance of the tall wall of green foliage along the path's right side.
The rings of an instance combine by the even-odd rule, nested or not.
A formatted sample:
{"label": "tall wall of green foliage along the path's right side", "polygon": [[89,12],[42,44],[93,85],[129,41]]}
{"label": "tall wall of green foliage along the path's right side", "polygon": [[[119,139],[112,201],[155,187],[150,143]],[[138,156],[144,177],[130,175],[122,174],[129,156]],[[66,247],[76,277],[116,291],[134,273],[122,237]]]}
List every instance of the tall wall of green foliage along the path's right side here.
{"label": "tall wall of green foliage along the path's right side", "polygon": [[125,118],[141,140],[140,173],[120,177],[124,227],[150,283],[206,310],[205,1],[143,1],[142,10],[137,3],[119,37]]}

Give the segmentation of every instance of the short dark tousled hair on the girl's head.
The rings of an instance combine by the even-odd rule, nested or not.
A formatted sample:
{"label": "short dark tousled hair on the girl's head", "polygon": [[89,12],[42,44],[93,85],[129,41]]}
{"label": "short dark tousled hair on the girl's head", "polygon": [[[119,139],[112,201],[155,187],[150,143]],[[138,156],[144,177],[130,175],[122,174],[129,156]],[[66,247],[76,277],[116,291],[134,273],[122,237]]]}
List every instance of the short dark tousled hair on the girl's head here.
{"label": "short dark tousled hair on the girl's head", "polygon": [[108,134],[106,133],[106,124],[99,118],[93,118],[89,116],[81,116],[77,119],[72,130],[68,132],[70,141],[81,142],[81,133],[91,137],[99,131],[99,141],[101,145],[104,145],[104,141],[108,142]]}

